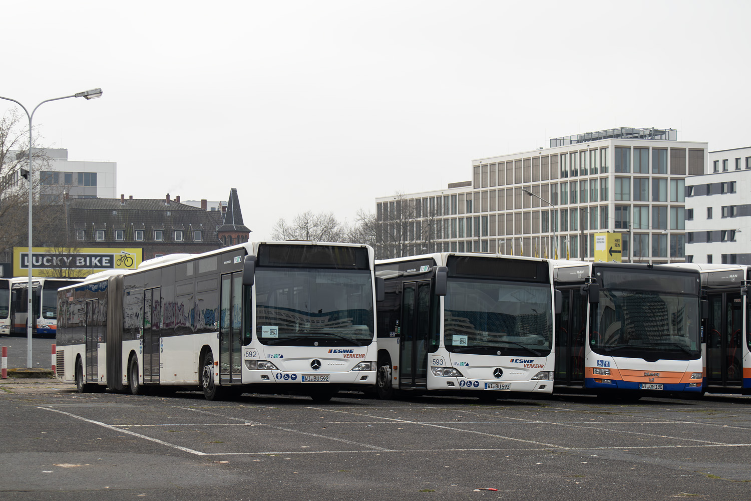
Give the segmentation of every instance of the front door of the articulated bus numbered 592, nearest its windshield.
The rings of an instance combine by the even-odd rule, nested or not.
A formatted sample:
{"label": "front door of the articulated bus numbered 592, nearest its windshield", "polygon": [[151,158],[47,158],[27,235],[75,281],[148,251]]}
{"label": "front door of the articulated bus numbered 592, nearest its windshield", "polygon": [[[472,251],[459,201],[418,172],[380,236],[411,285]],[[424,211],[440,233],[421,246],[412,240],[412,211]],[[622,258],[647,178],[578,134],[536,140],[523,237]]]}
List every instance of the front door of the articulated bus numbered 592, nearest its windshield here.
{"label": "front door of the articulated bus numbered 592, nearest its windshield", "polygon": [[219,382],[241,382],[240,334],[242,333],[243,273],[222,275],[221,312],[219,312]]}

